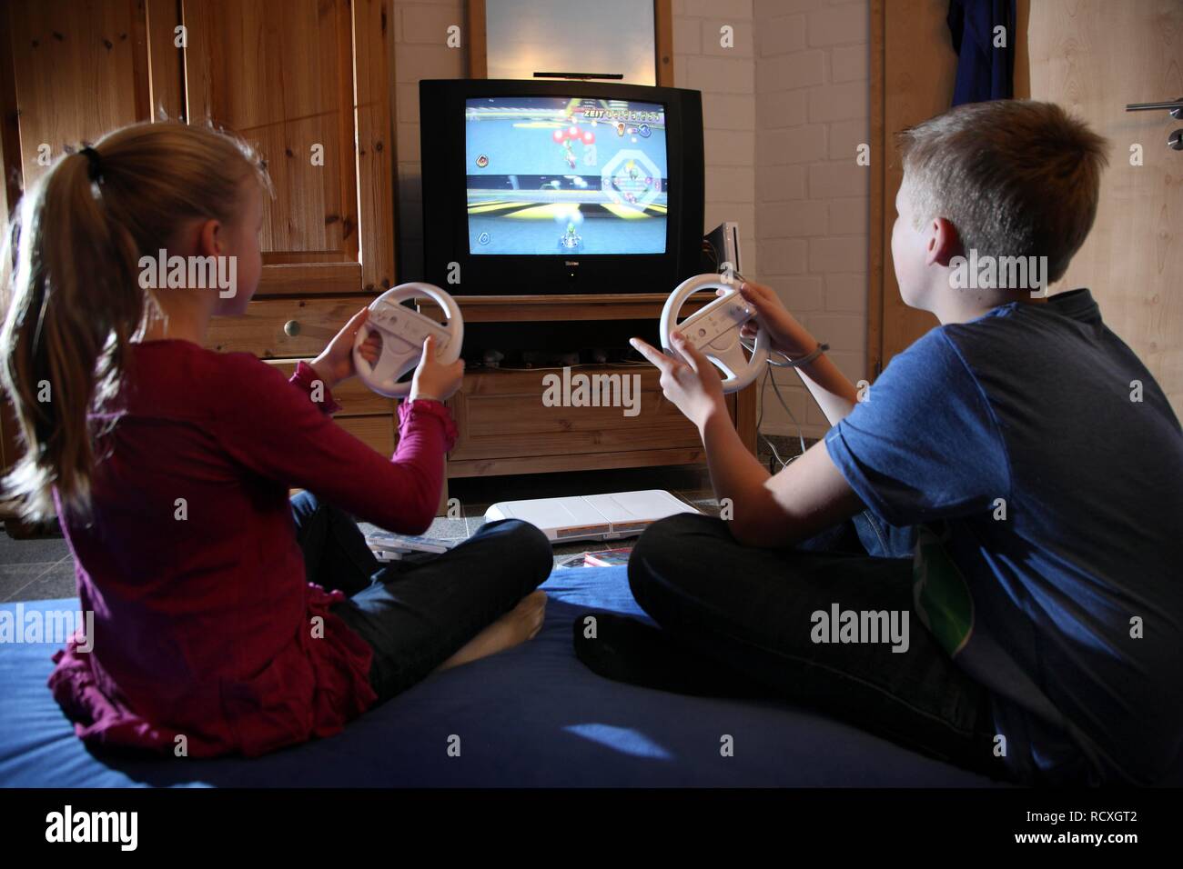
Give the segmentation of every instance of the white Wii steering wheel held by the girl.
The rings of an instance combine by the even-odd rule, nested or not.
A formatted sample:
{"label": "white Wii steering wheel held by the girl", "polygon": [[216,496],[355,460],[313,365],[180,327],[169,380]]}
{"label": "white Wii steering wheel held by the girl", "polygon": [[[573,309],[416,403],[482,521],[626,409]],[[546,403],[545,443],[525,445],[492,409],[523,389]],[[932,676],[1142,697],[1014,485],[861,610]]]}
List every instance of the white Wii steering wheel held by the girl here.
{"label": "white Wii steering wheel held by the girl", "polygon": [[[407,299],[432,299],[447,314],[447,325],[441,326],[429,317],[400,303]],[[382,356],[370,365],[362,355],[361,345],[376,329],[382,333]],[[445,365],[460,358],[464,343],[464,319],[455,299],[433,284],[400,284],[387,290],[370,303],[370,313],[354,339],[354,365],[362,382],[379,395],[402,398],[411,393],[411,382],[399,383],[399,378],[419,364],[424,352],[424,341],[435,336],[437,358]]]}

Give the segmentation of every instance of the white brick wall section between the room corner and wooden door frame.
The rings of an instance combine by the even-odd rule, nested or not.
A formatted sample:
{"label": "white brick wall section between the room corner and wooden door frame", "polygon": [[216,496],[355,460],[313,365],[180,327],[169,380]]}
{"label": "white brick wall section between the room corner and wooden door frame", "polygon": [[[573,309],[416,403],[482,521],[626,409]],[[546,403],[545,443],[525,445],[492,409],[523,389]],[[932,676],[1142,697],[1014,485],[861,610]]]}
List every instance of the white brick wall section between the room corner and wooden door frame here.
{"label": "white brick wall section between the room corner and wooden door frame", "polygon": [[[851,380],[866,377],[868,0],[755,0],[755,277],[772,286]],[[710,169],[707,170],[710,171]],[[825,417],[800,378],[774,375],[807,437]],[[796,427],[769,388],[763,430]]]}

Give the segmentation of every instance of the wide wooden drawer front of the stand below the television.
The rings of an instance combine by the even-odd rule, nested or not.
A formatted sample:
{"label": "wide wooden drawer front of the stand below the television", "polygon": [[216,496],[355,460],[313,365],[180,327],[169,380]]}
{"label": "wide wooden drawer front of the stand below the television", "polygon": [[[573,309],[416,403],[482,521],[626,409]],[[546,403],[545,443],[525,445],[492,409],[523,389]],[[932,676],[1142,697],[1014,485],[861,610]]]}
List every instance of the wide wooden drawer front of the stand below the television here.
{"label": "wide wooden drawer front of the stand below the television", "polygon": [[[700,448],[698,430],[665,400],[653,368],[587,367],[587,375],[636,375],[640,410],[623,407],[548,407],[543,377],[562,371],[480,371],[464,378],[450,401],[460,436],[450,461],[563,456],[647,449]],[[632,395],[632,393],[629,393]],[[733,413],[733,400],[729,398]]]}

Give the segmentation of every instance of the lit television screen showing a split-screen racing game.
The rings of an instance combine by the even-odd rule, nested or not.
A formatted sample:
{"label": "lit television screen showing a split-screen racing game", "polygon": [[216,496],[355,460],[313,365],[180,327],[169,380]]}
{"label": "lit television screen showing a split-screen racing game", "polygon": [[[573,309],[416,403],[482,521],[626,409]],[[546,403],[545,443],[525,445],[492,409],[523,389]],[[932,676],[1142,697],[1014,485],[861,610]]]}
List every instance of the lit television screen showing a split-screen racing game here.
{"label": "lit television screen showing a split-screen racing game", "polygon": [[467,98],[465,160],[472,255],[666,252],[660,103]]}

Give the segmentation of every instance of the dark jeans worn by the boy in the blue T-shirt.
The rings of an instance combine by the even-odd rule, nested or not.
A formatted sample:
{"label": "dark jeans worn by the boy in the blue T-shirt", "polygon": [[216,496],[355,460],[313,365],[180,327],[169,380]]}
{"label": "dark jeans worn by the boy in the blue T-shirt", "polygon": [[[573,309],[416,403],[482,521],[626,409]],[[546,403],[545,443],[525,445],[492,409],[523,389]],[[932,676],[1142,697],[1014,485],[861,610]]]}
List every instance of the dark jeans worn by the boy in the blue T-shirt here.
{"label": "dark jeans worn by the boy in the blue T-shirt", "polygon": [[[855,533],[856,532],[856,533]],[[685,647],[900,745],[1006,778],[989,692],[952,662],[912,611],[909,528],[864,513],[796,549],[735,541],[719,519],[674,515],[646,530],[628,581],[649,616]],[[909,647],[814,642],[821,610],[906,612]]]}

